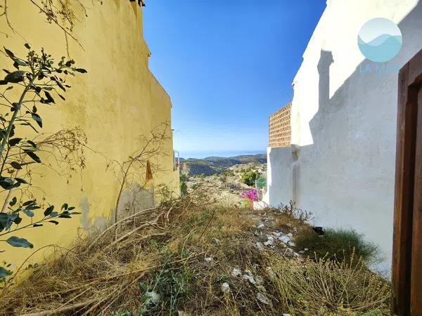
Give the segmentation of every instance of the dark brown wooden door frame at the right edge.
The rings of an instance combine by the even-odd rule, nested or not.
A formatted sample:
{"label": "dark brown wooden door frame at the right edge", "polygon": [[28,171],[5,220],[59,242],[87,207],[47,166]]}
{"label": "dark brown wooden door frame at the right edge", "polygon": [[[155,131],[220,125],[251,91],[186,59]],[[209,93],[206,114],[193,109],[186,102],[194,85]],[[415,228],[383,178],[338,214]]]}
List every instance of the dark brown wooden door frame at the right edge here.
{"label": "dark brown wooden door frame at the right edge", "polygon": [[422,85],[422,51],[399,72],[395,213],[392,249],[393,311],[411,315],[411,244],[414,210],[418,91]]}

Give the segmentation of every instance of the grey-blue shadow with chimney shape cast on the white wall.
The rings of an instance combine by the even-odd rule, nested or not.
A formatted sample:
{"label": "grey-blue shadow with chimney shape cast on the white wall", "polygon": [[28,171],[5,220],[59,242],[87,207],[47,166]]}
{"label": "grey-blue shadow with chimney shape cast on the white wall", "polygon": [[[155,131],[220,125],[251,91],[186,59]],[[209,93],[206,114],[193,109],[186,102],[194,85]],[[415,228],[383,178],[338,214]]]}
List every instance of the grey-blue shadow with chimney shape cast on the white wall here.
{"label": "grey-blue shadow with chimney shape cast on the white wall", "polygon": [[313,144],[288,148],[290,158],[277,155],[286,157],[288,164],[275,160],[276,168],[269,170],[272,190],[280,173],[290,179],[287,187],[276,191],[283,197],[281,202],[288,202],[284,192],[290,192],[298,207],[314,213],[316,223],[351,226],[380,244],[387,257],[384,270],[390,265],[395,183],[398,72],[392,69],[399,70],[421,50],[421,17],[419,1],[399,22],[402,50],[384,64],[394,67],[386,70],[378,64],[376,68],[375,62],[364,60],[340,88],[331,91],[331,98],[335,54],[321,50],[316,66],[318,112],[309,121]]}

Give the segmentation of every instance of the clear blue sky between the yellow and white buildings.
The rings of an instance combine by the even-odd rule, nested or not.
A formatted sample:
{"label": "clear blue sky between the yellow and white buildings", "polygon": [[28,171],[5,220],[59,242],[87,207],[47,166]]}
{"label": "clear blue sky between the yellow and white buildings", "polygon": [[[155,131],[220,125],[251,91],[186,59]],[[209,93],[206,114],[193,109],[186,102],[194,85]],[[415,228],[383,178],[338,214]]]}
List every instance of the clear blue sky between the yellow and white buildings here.
{"label": "clear blue sky between the yellow and white buildings", "polygon": [[172,98],[174,148],[264,152],[325,0],[153,0],[150,68]]}

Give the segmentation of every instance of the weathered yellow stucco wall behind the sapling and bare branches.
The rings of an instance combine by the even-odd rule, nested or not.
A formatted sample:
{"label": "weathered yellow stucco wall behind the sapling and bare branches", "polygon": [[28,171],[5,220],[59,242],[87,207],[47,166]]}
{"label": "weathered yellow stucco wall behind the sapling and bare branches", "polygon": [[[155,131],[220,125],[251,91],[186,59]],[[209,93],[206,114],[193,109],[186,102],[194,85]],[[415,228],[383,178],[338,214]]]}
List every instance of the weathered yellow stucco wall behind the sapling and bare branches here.
{"label": "weathered yellow stucco wall behind the sapling and bare branches", "polygon": [[[56,206],[68,202],[83,214],[61,220],[60,225],[16,234],[29,239],[34,249],[15,249],[1,243],[0,249],[6,252],[0,258],[14,265],[41,246],[68,246],[78,228],[87,223],[93,225],[110,219],[120,184],[113,170],[106,168],[104,157],[123,162],[142,147],[142,135],[165,121],[170,122],[170,97],[148,70],[149,51],[143,39],[141,8],[129,0],[104,0],[102,5],[91,0],[84,3],[88,17],[75,6],[79,20],[73,29],[83,50],[69,39],[69,51],[76,65],[88,73],[68,76],[72,88],[65,93],[66,100],[57,98],[53,107],[39,106],[39,113],[44,121],[43,133],[79,126],[87,134],[87,145],[97,153],[85,150],[87,167],[70,180],[45,167],[38,168],[32,180],[44,190],[46,201]],[[1,18],[0,30],[8,35],[0,33],[0,46],[25,56],[23,44],[27,42],[35,50],[44,47],[57,56],[56,60],[66,55],[63,32],[46,23],[30,1],[8,1],[8,16],[19,34],[13,34]],[[0,68],[11,69],[11,60],[6,55],[0,54]],[[173,171],[171,133],[169,128],[170,138],[164,143],[166,155],[155,159],[165,171],[154,176],[153,184],[164,183],[179,192],[179,174]],[[39,198],[43,195],[37,193]],[[40,258],[41,254],[34,256],[35,261]]]}

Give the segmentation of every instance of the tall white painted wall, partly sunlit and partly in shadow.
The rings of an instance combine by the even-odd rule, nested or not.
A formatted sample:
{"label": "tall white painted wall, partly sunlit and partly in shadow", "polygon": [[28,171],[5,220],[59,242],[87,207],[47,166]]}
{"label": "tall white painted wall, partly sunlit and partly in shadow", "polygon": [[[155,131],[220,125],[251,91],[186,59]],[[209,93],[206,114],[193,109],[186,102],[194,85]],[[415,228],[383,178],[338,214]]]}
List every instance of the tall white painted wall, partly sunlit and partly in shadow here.
{"label": "tall white painted wall, partly sunlit and partly in shadow", "polygon": [[[268,150],[268,197],[295,197],[318,225],[352,227],[376,242],[389,270],[395,178],[397,73],[360,73],[359,29],[371,18],[399,25],[403,46],[388,64],[402,67],[422,49],[422,2],[328,0],[293,80],[292,144]],[[296,178],[296,185],[292,178]],[[295,194],[294,194],[295,187]]]}

